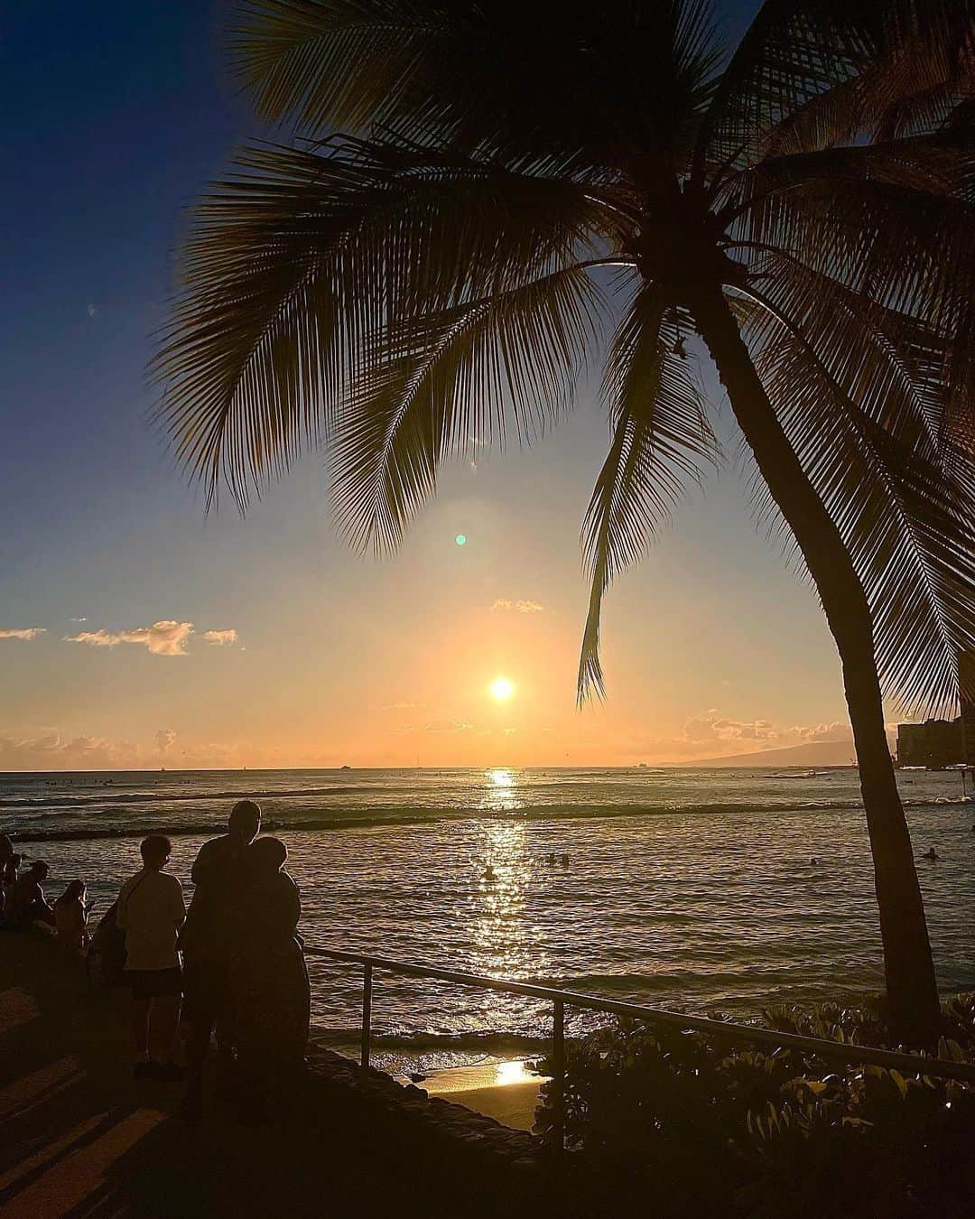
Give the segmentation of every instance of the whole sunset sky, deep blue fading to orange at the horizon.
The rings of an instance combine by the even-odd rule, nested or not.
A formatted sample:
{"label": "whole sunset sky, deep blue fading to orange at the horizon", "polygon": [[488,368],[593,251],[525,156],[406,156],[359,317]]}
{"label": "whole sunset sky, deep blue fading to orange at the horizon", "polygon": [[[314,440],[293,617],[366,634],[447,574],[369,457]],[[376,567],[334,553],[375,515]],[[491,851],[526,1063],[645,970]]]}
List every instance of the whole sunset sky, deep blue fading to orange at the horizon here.
{"label": "whole sunset sky, deep blue fading to orange at the horizon", "polygon": [[451,467],[392,560],[339,540],[321,453],[246,519],[205,513],[145,366],[184,210],[256,130],[222,63],[204,0],[0,18],[0,769],[630,766],[848,739],[814,594],[734,462],[611,590],[607,698],[576,707],[607,445],[589,393],[531,449]]}

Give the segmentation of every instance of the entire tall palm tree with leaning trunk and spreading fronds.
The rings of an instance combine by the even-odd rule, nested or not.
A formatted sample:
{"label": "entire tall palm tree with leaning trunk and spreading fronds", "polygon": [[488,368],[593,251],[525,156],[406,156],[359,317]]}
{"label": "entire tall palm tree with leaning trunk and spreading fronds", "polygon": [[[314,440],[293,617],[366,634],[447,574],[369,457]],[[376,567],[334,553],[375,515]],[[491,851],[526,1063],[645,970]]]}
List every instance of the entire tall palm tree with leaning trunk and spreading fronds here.
{"label": "entire tall palm tree with leaning trunk and spreading fronds", "polygon": [[890,1015],[930,1040],[881,692],[949,707],[975,645],[975,0],[765,0],[730,55],[700,0],[250,0],[230,44],[295,134],[196,210],[178,460],[244,508],[324,444],[386,550],[444,460],[601,364],[585,697],[608,584],[714,460],[702,345],[836,641]]}

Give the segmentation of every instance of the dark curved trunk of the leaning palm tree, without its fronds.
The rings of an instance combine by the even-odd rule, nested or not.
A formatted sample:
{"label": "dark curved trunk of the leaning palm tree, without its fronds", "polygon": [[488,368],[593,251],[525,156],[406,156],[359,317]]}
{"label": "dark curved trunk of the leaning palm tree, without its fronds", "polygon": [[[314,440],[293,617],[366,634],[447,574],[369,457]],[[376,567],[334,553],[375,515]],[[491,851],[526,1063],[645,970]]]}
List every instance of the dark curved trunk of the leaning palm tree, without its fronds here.
{"label": "dark curved trunk of the leaning palm tree, without its fronds", "polygon": [[782,432],[720,288],[701,289],[692,312],[762,477],[802,550],[840,652],[874,857],[888,1019],[903,1041],[930,1045],[938,1026],[935,968],[884,728],[870,607],[840,530]]}

